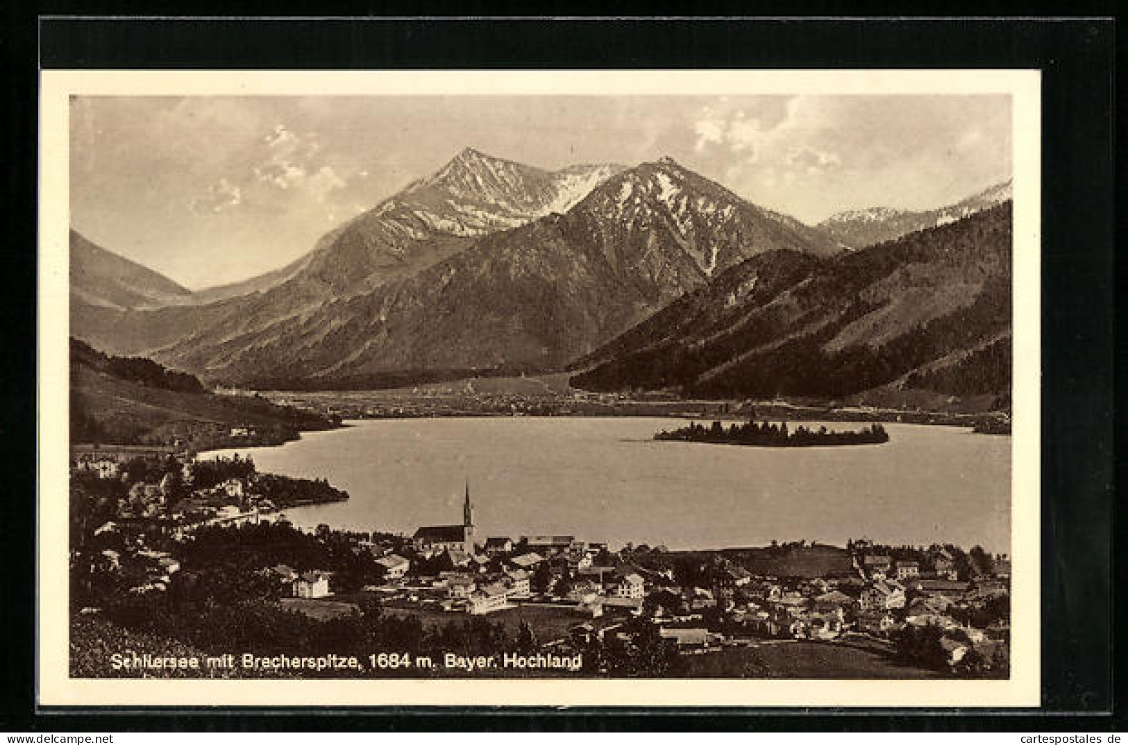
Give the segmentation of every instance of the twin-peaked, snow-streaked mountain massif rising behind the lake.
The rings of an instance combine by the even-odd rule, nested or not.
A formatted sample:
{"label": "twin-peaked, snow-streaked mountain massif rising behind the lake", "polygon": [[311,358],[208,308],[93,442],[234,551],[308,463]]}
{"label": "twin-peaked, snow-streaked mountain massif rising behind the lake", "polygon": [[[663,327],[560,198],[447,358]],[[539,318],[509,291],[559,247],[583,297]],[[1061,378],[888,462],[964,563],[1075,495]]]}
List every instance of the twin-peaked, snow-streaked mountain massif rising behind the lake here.
{"label": "twin-peaked, snow-streaked mountain massif rising behind the lake", "polygon": [[109,352],[264,387],[545,371],[779,247],[840,250],[669,159],[545,171],[466,150],[273,286],[160,309],[76,304],[72,327]]}

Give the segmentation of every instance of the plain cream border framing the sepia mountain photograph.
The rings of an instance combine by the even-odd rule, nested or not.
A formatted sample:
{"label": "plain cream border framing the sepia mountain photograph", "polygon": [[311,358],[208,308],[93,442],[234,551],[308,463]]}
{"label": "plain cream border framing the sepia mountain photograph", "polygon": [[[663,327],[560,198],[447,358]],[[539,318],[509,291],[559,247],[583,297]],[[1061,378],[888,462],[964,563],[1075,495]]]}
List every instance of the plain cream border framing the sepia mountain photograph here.
{"label": "plain cream border framing the sepia mountain photograph", "polygon": [[[1040,691],[1040,72],[41,72],[37,699],[41,706],[1037,707]],[[1012,677],[1008,681],[360,680],[68,676],[70,96],[1011,95],[1014,161]]]}

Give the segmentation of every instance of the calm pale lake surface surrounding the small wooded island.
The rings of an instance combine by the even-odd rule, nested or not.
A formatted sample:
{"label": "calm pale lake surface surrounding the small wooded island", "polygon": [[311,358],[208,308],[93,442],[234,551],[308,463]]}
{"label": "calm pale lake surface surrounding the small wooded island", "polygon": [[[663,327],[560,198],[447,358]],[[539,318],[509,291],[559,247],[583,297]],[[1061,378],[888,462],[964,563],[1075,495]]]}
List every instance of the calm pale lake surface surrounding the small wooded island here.
{"label": "calm pale lake surface surrounding the small wooded island", "polygon": [[1011,552],[1011,437],[968,428],[885,424],[890,442],[880,445],[747,447],[655,442],[656,431],[686,424],[662,418],[349,424],[218,453],[250,454],[259,471],[349,491],[349,502],[287,511],[303,527],[411,534],[460,523],[468,481],[483,541],[564,534],[687,549],[865,536]]}

